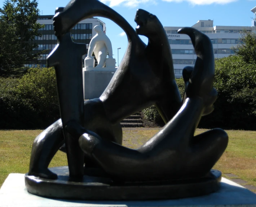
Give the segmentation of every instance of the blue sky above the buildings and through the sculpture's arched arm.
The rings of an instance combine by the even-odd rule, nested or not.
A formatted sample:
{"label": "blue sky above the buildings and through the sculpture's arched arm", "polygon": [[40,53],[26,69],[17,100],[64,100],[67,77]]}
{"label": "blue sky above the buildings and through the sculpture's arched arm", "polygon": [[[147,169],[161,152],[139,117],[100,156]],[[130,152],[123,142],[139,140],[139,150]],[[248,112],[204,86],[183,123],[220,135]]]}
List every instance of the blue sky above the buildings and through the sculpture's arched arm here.
{"label": "blue sky above the buildings and through the sculpture's arched arm", "polygon": [[[0,0],[0,7],[4,0]],[[69,0],[38,0],[43,15],[54,14],[58,6],[66,6]],[[214,20],[215,26],[251,26],[253,13],[250,11],[256,6],[256,0],[102,0],[112,7],[136,28],[134,16],[137,9],[145,9],[155,14],[163,26],[190,27],[199,19]],[[99,17],[106,23],[106,35],[112,42],[114,58],[119,62],[127,47],[127,37],[123,30],[109,19]],[[122,36],[123,35],[123,36]],[[147,43],[147,38],[142,37]],[[157,55],[157,54],[156,54]]]}

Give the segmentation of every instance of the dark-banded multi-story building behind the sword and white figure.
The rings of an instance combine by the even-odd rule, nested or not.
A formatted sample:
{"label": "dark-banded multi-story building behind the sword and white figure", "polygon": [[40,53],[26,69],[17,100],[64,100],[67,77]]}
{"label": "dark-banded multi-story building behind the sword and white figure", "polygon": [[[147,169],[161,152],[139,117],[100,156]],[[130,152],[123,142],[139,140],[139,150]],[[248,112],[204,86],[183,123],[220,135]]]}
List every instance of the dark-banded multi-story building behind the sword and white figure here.
{"label": "dark-banded multi-story building behind the sword and white figure", "polygon": [[[57,37],[54,35],[53,30],[53,17],[54,15],[41,15],[37,18],[37,23],[44,25],[44,28],[41,28],[40,31],[38,31],[42,36],[35,38],[38,48],[34,50],[34,52],[37,53],[41,50],[46,50],[46,52],[44,52],[40,60],[28,63],[26,66],[34,67],[37,64],[41,67],[46,66],[46,58],[57,45]],[[74,42],[86,44],[88,51],[89,43],[92,37],[96,35],[96,32],[93,29],[96,25],[100,26],[102,31],[106,31],[106,24],[98,18],[85,19],[76,24],[71,30],[71,36]],[[86,56],[87,54],[83,56],[83,63]]]}

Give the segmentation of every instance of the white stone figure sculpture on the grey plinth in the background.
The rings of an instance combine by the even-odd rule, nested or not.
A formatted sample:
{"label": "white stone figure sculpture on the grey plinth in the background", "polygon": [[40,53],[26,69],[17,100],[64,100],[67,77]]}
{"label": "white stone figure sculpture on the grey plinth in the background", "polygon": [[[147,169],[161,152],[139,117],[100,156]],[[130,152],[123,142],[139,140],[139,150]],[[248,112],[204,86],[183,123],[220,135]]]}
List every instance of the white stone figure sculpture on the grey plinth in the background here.
{"label": "white stone figure sculpture on the grey plinth in the background", "polygon": [[[110,39],[101,30],[100,26],[95,26],[93,29],[97,32],[97,34],[92,38],[89,44],[88,55],[84,61],[85,68],[94,67],[94,59],[92,57],[93,52],[96,60],[98,61],[96,68],[103,68],[105,65],[106,67],[115,67],[115,59],[113,59]],[[109,53],[109,59],[106,63],[107,53]]]}

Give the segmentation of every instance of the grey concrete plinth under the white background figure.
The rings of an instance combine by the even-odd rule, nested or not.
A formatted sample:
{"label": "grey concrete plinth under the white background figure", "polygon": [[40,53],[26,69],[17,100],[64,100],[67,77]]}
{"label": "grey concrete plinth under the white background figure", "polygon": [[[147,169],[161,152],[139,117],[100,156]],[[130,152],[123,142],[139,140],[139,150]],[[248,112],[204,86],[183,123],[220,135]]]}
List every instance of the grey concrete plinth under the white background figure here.
{"label": "grey concrete plinth under the white background figure", "polygon": [[102,71],[101,68],[100,71],[97,71],[98,68],[92,69],[86,68],[86,70],[83,70],[84,99],[99,98],[116,70]]}

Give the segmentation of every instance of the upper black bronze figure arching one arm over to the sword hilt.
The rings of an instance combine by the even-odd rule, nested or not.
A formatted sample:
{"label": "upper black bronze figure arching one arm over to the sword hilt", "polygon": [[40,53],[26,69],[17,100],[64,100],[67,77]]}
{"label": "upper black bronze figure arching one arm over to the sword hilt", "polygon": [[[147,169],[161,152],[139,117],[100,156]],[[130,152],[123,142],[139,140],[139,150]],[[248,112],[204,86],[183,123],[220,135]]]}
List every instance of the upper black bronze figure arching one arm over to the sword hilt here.
{"label": "upper black bronze figure arching one arm over to the sword hilt", "polygon": [[[72,18],[66,20],[70,15]],[[98,0],[71,1],[63,12],[54,17],[56,35],[61,36],[66,32],[66,28],[70,29],[77,21],[92,15],[108,17],[122,27],[127,33],[128,47],[118,70],[101,97],[84,103],[83,126],[103,139],[122,144],[122,129],[119,123],[127,116],[155,104],[167,123],[180,109],[182,100],[173,72],[171,49],[163,26],[154,15],[144,10],[139,10],[136,14],[135,21],[140,24],[137,31],[149,37],[146,46],[122,16]],[[155,29],[150,29],[152,26]],[[159,54],[159,57],[155,58],[154,54]],[[72,63],[72,60],[70,61]],[[70,101],[72,102],[71,99]],[[37,158],[31,159],[30,169],[33,170],[29,171],[30,175],[40,174],[45,178],[54,178],[52,174],[47,174],[49,171],[45,167],[57,149],[45,150],[44,142],[47,139],[47,142],[52,142],[50,146],[58,147],[58,144],[53,143],[57,143],[56,139],[61,138],[54,137],[52,133],[61,131],[60,126],[53,131],[48,130],[50,133],[43,134],[43,138],[39,135],[34,142],[31,157]],[[53,126],[50,126],[50,129],[54,129]],[[41,171],[45,173],[42,174]]]}

